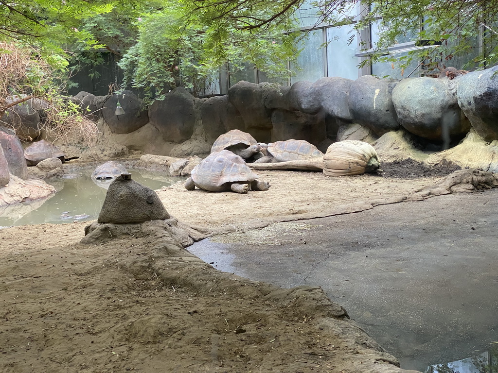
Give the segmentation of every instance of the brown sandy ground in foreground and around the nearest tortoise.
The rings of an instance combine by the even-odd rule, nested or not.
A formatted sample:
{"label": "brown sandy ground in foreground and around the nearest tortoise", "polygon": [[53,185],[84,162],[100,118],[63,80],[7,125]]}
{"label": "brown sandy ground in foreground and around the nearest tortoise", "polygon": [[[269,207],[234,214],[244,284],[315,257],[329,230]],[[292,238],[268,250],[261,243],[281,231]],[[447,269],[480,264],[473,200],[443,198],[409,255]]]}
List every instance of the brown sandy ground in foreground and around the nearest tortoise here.
{"label": "brown sandy ground in foreground and around the nearest tortoise", "polygon": [[[259,175],[268,191],[158,195],[224,234],[421,200],[439,179]],[[82,245],[85,225],[0,230],[0,372],[400,372],[318,287],[222,273],[155,233]]]}

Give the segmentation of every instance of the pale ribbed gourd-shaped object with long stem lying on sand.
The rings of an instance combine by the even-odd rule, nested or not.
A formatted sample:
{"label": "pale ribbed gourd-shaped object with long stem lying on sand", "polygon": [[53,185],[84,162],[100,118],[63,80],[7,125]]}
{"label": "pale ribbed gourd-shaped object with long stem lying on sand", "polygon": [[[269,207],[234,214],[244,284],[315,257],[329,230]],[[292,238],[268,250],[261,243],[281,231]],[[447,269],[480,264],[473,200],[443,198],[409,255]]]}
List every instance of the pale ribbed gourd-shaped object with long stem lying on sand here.
{"label": "pale ribbed gourd-shaped object with long stem lying on sand", "polygon": [[322,157],[279,163],[252,163],[254,170],[307,170],[323,171],[327,176],[361,175],[380,173],[377,152],[367,142],[344,140],[333,143]]}

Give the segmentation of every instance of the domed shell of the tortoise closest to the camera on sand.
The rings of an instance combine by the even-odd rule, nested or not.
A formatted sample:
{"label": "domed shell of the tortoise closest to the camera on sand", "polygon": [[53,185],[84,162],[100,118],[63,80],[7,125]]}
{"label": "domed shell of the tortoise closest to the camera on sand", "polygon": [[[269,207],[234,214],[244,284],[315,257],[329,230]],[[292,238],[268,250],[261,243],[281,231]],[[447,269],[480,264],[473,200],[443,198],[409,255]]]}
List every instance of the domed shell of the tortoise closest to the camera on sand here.
{"label": "domed shell of the tortoise closest to the camera on sand", "polygon": [[192,170],[192,180],[200,189],[222,191],[231,183],[251,183],[258,176],[246,161],[229,150],[211,153]]}

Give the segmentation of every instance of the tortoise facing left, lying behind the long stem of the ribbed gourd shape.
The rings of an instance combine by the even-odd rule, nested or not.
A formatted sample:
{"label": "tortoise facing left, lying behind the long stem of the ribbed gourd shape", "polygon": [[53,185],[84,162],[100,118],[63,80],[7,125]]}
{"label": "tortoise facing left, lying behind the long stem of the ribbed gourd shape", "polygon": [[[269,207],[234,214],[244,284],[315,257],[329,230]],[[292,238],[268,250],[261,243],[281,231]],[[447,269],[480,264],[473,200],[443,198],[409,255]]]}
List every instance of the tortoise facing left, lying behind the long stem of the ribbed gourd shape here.
{"label": "tortoise facing left, lying behind the long stem of the ribbed gourd shape", "polygon": [[275,141],[268,144],[258,143],[261,145],[261,157],[254,163],[275,163],[298,161],[323,156],[323,153],[318,148],[305,140],[286,140]]}

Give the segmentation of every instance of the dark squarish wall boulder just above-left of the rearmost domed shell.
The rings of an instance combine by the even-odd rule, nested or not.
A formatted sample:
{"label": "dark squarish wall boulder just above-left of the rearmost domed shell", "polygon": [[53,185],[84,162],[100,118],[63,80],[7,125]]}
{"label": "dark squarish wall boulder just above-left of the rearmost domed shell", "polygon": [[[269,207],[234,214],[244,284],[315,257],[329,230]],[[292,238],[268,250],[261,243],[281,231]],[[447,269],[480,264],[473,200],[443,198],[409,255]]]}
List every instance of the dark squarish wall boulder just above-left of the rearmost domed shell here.
{"label": "dark squarish wall boulder just above-left of the rearmost domed shell", "polygon": [[200,112],[208,143],[213,144],[218,136],[225,132],[245,127],[241,113],[229,101],[226,94],[204,100]]}

